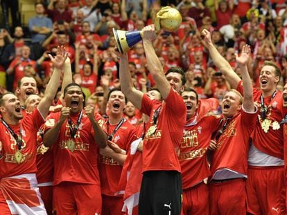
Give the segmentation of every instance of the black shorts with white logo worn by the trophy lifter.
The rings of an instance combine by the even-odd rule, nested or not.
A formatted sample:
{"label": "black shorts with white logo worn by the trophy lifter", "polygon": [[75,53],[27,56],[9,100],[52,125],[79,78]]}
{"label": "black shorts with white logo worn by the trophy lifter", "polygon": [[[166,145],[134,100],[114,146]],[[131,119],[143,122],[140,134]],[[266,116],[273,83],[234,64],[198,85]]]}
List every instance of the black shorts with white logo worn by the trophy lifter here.
{"label": "black shorts with white logo worn by the trophy lifter", "polygon": [[180,215],[182,175],[178,171],[146,171],[139,194],[139,215]]}

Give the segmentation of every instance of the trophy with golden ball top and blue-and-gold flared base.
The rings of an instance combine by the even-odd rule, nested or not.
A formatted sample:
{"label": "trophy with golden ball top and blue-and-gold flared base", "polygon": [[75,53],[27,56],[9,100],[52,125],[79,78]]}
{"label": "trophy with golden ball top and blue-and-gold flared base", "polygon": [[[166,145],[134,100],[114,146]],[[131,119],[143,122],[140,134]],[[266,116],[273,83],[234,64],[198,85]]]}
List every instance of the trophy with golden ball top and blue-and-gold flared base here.
{"label": "trophy with golden ball top and blue-and-gold flared base", "polygon": [[[163,29],[168,32],[173,32],[180,27],[182,23],[182,16],[175,8],[169,6],[162,8],[157,12],[155,17],[155,30]],[[125,31],[112,29],[114,38],[116,39],[116,46],[120,53],[127,53],[134,44],[141,41],[141,30]]]}

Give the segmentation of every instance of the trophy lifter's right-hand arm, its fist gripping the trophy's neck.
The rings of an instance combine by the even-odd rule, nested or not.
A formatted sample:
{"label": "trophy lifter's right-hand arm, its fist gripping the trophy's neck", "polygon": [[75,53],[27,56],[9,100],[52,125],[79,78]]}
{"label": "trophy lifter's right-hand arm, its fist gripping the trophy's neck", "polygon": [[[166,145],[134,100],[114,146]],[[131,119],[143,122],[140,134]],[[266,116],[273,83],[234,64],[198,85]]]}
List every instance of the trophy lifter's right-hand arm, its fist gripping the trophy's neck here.
{"label": "trophy lifter's right-hand arm, its fist gripping the trophy's neck", "polygon": [[143,48],[146,53],[148,71],[150,71],[159,92],[162,94],[162,98],[165,100],[166,97],[168,97],[168,93],[171,91],[171,85],[166,80],[164,68],[162,68],[162,64],[155,54],[155,48],[153,48],[152,40],[155,39],[155,26],[146,26],[143,28],[142,32]]}

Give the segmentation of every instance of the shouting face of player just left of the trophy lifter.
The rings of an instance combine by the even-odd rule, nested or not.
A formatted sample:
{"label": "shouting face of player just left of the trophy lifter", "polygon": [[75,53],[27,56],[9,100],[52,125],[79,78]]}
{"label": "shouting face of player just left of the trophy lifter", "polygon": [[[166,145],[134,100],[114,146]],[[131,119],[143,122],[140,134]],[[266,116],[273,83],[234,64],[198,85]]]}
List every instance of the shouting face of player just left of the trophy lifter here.
{"label": "shouting face of player just left of the trophy lifter", "polygon": [[110,113],[122,114],[125,107],[125,95],[121,91],[113,91],[107,101]]}

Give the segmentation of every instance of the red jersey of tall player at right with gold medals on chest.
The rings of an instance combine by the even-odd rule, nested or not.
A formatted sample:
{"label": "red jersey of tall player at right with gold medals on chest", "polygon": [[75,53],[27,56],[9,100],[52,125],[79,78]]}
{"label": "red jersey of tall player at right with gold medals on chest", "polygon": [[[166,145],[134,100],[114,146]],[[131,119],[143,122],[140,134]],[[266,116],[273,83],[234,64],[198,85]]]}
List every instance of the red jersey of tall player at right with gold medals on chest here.
{"label": "red jersey of tall player at right with gold medals on chest", "polygon": [[[239,82],[237,90],[241,94],[243,94],[243,86],[241,82]],[[261,90],[253,88],[254,104],[259,110],[261,108],[261,94]],[[282,104],[282,93],[277,91],[275,97],[272,98],[272,96],[270,96],[264,98],[264,104],[268,109],[266,111],[266,119],[271,120],[271,124],[267,133],[263,131],[261,127],[261,123],[263,122],[261,118],[261,112],[258,111],[258,120],[256,122],[256,127],[254,128],[254,132],[251,135],[253,144],[257,149],[263,151],[263,153],[267,153],[270,156],[274,156],[283,160],[283,126],[280,126],[280,128],[277,130],[272,128],[272,123],[281,122],[282,118],[284,118],[285,115]]]}

